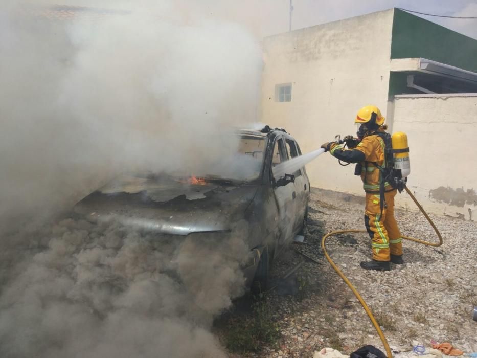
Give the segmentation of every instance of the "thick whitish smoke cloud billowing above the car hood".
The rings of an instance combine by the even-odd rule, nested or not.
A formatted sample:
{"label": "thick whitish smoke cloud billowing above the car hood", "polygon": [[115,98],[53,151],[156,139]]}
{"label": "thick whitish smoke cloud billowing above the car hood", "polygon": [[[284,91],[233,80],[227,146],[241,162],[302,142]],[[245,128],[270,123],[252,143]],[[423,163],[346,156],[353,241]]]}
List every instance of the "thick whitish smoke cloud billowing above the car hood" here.
{"label": "thick whitish smoke cloud billowing above the car hood", "polygon": [[96,3],[61,20],[61,7],[2,8],[4,225],[119,168],[193,170],[220,153],[217,132],[255,120],[261,54],[246,30],[181,18],[173,2]]}

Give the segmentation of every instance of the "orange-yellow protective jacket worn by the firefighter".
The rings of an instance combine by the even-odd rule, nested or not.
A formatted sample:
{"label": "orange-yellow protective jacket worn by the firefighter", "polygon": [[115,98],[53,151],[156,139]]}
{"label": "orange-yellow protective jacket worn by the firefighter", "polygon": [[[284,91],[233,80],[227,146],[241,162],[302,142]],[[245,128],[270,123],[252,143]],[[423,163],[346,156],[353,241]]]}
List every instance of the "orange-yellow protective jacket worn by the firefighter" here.
{"label": "orange-yellow protective jacket worn by the firefighter", "polygon": [[[378,131],[385,131],[386,127],[381,127]],[[356,148],[343,149],[341,145],[333,144],[330,148],[331,155],[339,160],[348,163],[361,163],[361,180],[363,189],[367,193],[379,193],[379,182],[381,179],[381,171],[374,164],[383,167],[385,144],[381,137],[371,133],[365,136]],[[388,183],[384,183],[384,190],[394,190]]]}

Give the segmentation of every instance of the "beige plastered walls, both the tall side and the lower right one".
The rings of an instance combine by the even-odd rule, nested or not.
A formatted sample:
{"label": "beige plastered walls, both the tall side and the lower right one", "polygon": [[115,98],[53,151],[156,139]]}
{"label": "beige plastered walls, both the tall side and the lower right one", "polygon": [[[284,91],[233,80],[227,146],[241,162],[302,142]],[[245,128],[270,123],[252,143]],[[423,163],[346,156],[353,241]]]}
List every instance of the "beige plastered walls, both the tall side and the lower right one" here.
{"label": "beige plastered walls, both the tall side and the lower right one", "polygon": [[[390,71],[397,62],[417,60],[390,60],[392,22],[387,10],[265,38],[261,120],[285,128],[308,152],[338,133],[354,135],[357,110],[376,104],[391,130],[408,135],[408,187],[424,208],[466,219],[470,209],[477,220],[477,94],[388,102]],[[276,102],[281,83],[292,83],[291,102]],[[306,168],[314,187],[363,194],[354,166],[339,166],[329,154]],[[414,208],[405,193],[396,203]]]}

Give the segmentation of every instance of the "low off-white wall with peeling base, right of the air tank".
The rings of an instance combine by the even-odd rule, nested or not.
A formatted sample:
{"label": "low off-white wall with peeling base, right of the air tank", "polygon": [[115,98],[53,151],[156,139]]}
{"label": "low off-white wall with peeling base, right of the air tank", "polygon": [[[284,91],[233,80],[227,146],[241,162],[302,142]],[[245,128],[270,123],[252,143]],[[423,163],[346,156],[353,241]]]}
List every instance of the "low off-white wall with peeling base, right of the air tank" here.
{"label": "low off-white wall with peeling base, right of the air tank", "polygon": [[[477,94],[396,96],[393,117],[409,141],[408,187],[424,208],[477,220]],[[397,203],[414,207],[405,194]]]}

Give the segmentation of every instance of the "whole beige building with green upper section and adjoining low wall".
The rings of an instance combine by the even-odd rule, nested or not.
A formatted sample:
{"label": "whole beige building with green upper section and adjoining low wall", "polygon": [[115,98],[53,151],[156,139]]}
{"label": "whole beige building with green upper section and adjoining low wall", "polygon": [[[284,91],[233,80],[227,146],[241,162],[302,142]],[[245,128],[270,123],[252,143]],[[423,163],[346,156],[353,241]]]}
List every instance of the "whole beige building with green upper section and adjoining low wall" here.
{"label": "whole beige building with green upper section and adjoining low wall", "polygon": [[[471,217],[477,161],[458,156],[456,139],[477,136],[477,40],[391,9],[270,36],[263,50],[264,123],[307,152],[355,135],[357,110],[375,104],[391,131],[408,135],[408,187],[424,207]],[[312,186],[362,195],[353,169],[328,154],[307,165]]]}

